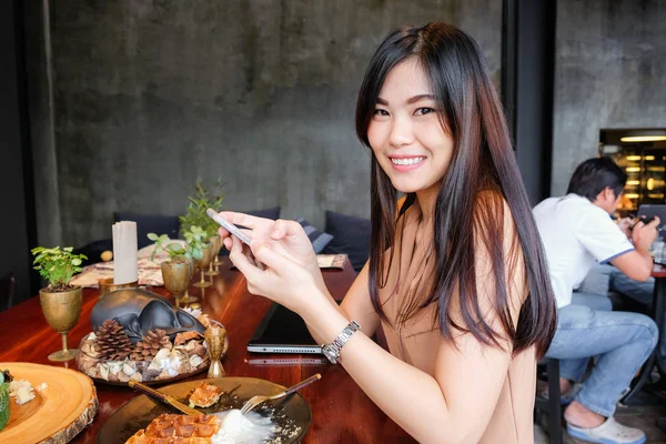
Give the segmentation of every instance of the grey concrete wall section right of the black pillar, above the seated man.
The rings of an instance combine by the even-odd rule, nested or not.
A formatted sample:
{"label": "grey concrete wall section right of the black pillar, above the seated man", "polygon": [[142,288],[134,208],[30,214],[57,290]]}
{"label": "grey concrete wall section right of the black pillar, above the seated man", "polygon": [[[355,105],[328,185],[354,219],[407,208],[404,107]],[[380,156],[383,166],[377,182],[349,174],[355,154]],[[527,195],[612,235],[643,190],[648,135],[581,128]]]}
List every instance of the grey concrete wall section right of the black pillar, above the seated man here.
{"label": "grey concrete wall section right of the black pillar, above the seated man", "polygon": [[559,0],[554,195],[594,157],[602,128],[666,127],[666,1]]}

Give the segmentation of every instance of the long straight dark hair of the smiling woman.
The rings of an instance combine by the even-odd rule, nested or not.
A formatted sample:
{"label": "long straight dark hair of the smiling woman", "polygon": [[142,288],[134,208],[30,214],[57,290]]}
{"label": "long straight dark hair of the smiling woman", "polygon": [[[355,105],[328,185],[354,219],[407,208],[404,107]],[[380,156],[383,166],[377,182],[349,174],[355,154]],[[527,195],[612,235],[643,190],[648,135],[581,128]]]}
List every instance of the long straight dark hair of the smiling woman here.
{"label": "long straight dark hair of the smiling woman", "polygon": [[[555,297],[551,287],[545,254],[532,209],[512,149],[506,119],[476,42],[463,31],[445,23],[405,28],[386,37],[365,72],[356,104],[356,133],[370,147],[367,128],[387,73],[405,60],[416,60],[430,79],[442,124],[454,140],[454,152],[443,178],[434,215],[435,270],[430,294],[416,301],[417,310],[437,303],[440,331],[453,339],[454,331],[471,332],[486,345],[503,345],[498,333],[484,321],[476,287],[475,251],[483,243],[490,254],[495,284],[494,309],[514,355],[535,345],[545,354],[556,327]],[[487,192],[490,190],[490,192]],[[397,211],[397,191],[372,155],[371,171],[371,256],[370,294],[376,312],[389,321],[380,302],[379,289],[386,284],[390,259],[385,252],[394,244],[396,225],[415,201],[406,195]],[[504,205],[515,223],[509,253],[504,249]],[[517,238],[517,241],[516,241]],[[522,252],[522,258],[517,258]],[[517,261],[524,262],[528,296],[514,327],[506,275]],[[454,295],[460,301],[454,301]],[[464,325],[450,314],[458,305]],[[414,305],[414,304],[412,304]],[[456,317],[456,316],[454,316]]]}

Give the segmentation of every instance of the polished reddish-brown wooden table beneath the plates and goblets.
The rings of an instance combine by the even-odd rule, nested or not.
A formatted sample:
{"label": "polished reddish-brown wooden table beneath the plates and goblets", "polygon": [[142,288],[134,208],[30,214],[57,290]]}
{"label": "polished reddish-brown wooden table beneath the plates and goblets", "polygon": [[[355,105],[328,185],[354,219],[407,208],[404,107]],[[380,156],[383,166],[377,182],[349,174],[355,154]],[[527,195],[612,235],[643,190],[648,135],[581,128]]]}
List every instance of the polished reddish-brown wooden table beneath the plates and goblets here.
{"label": "polished reddish-brown wooden table beneath the plates and goblets", "polygon": [[[414,442],[376,407],[342,366],[311,363],[312,355],[266,355],[246,352],[245,346],[271,306],[271,301],[250,294],[244,278],[238,271],[230,270],[228,261],[224,259],[220,273],[213,278],[213,286],[204,289],[203,292],[191,287],[190,294],[200,297],[204,313],[226,326],[230,347],[223,365],[229,376],[259,377],[290,386],[314,373],[321,373],[323,377],[320,382],[301,391],[313,413],[312,427],[303,440],[304,443]],[[354,271],[347,261],[342,271],[324,271],[324,279],[331,294],[342,299],[354,280]],[[163,287],[155,287],[153,291],[165,294]],[[98,290],[83,291],[81,317],[69,333],[69,342],[72,346],[79,344],[81,339],[92,330],[89,319],[97,301]],[[0,313],[0,362],[20,361],[69,365],[70,369],[75,369],[74,361],[56,364],[47,360],[49,353],[59,350],[60,346],[60,335],[44,321],[39,297],[32,297]],[[270,363],[271,360],[285,357],[294,359],[294,363]],[[301,357],[303,361],[299,362]],[[192,380],[203,377],[205,373]],[[72,443],[94,443],[97,432],[104,421],[123,403],[137,395],[132,390],[124,387],[97,384],[97,389],[100,402],[97,417]]]}

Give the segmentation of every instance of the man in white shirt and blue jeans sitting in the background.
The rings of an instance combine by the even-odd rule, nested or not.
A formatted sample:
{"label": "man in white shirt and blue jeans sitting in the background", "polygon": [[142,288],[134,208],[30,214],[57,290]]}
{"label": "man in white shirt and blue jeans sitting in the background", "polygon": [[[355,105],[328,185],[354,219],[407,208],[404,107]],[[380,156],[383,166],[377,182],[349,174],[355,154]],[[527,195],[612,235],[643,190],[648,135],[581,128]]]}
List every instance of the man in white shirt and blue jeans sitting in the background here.
{"label": "man in white shirt and blue jeans sitting in the background", "polygon": [[643,314],[604,311],[575,297],[572,303],[574,289],[597,262],[612,263],[635,280],[652,273],[648,248],[659,221],[638,222],[632,243],[609,216],[626,180],[610,159],[589,159],[576,168],[567,195],[534,208],[558,309],[546,356],[561,360],[562,393],[572,391],[571,381],[582,381],[589,357],[599,356],[564,413],[569,435],[593,443],[645,442],[643,431],[618,424],[613,414],[658,337],[655,322]]}

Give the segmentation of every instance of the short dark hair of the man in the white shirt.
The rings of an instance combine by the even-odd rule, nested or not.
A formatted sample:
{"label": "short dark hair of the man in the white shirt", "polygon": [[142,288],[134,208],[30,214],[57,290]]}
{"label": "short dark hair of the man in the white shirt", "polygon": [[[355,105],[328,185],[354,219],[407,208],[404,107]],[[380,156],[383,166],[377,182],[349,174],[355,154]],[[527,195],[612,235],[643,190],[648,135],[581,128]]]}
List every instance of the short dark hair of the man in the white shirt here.
{"label": "short dark hair of the man in the white shirt", "polygon": [[610,188],[617,198],[627,183],[627,174],[610,158],[587,159],[581,163],[566,193],[576,193],[594,202],[597,195]]}

